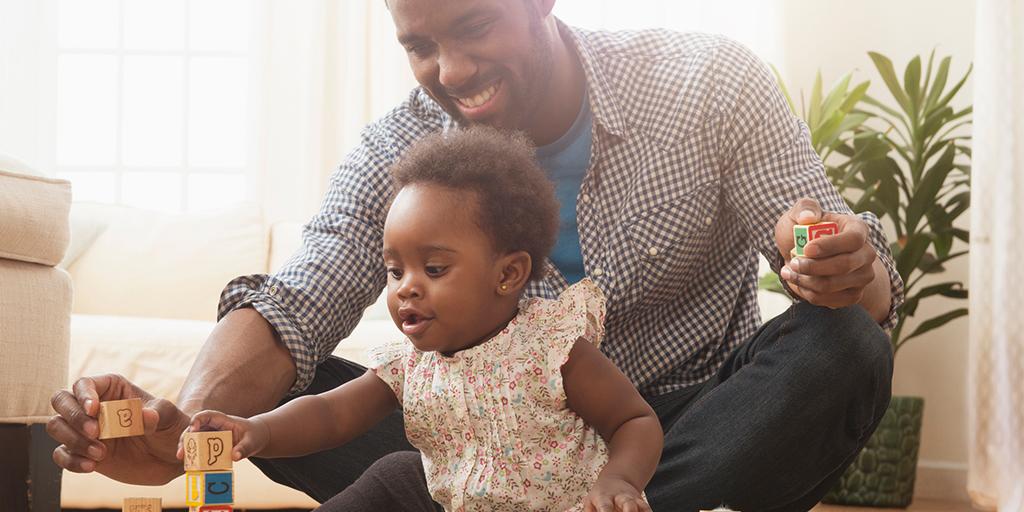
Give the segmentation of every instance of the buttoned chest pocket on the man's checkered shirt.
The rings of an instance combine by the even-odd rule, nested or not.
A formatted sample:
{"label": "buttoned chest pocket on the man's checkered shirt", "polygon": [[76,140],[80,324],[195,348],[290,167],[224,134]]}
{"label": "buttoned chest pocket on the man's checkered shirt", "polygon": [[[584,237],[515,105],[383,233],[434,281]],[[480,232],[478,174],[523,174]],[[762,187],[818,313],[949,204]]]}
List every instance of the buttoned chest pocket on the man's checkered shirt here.
{"label": "buttoned chest pocket on the man's checkered shirt", "polygon": [[682,294],[698,265],[711,263],[717,188],[697,189],[658,204],[626,225],[634,260],[634,300],[641,305],[669,302]]}

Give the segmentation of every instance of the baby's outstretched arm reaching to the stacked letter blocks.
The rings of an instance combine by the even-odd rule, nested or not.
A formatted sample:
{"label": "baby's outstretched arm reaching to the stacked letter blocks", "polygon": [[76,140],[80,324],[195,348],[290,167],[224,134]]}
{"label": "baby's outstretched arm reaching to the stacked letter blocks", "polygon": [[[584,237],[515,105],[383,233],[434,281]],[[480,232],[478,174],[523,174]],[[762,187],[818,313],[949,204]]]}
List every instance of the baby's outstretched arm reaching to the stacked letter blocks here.
{"label": "baby's outstretched arm reaching to the stacked letter blocks", "polygon": [[335,389],[300,396],[249,419],[203,411],[193,417],[188,429],[231,430],[234,460],[251,456],[298,457],[352,440],[397,406],[394,391],[368,371]]}

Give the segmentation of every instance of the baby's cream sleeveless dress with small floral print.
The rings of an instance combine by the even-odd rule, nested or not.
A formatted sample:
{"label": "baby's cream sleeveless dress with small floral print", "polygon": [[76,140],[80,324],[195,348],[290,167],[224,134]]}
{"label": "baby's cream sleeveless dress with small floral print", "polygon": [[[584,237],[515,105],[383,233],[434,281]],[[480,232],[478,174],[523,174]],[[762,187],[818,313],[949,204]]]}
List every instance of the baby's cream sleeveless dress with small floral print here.
{"label": "baby's cream sleeveless dress with small floral print", "polygon": [[568,409],[561,368],[579,339],[599,345],[604,296],[590,280],[531,298],[500,334],[449,357],[403,340],[371,350],[401,403],[427,487],[449,511],[582,511],[608,461]]}

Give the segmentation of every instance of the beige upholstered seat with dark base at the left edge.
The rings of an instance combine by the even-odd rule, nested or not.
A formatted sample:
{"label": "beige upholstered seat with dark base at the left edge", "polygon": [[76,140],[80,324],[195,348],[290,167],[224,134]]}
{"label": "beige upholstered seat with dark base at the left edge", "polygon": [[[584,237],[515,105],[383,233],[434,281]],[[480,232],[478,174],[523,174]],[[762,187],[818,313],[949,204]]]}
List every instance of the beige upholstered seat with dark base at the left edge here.
{"label": "beige upholstered seat with dark base at the left edge", "polygon": [[[56,510],[59,472],[40,424],[68,375],[71,184],[0,155],[0,504]],[[44,488],[45,487],[45,488]],[[30,503],[31,502],[31,503]]]}

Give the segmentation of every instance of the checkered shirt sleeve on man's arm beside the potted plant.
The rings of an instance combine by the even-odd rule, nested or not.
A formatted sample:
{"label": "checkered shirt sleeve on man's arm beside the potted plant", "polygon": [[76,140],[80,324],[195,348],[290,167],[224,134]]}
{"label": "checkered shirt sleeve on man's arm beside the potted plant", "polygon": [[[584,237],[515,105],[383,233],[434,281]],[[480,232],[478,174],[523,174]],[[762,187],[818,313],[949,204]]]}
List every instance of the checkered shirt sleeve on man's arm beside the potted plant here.
{"label": "checkered shirt sleeve on man's arm beside the potted plant", "polygon": [[[730,210],[748,226],[748,236],[778,272],[784,264],[775,245],[775,224],[800,198],[817,200],[830,212],[853,213],[828,181],[811,146],[807,125],[793,115],[768,69],[750,50],[726,41],[718,48],[716,108],[724,123],[720,153]],[[752,207],[752,205],[757,205]],[[870,244],[889,272],[892,301],[882,324],[896,325],[903,303],[903,281],[896,271],[882,223],[872,213],[859,214],[870,231]]]}

